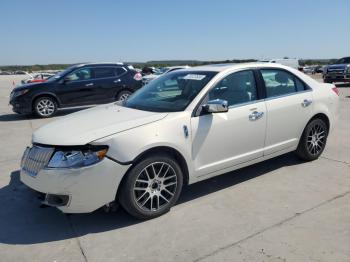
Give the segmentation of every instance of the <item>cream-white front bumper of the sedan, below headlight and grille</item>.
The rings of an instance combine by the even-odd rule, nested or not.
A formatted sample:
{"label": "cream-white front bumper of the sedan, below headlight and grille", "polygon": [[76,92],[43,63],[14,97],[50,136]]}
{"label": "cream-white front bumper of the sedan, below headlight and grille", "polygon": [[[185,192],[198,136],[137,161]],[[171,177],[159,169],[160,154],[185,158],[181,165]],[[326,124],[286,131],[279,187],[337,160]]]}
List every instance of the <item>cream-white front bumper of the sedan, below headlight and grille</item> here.
{"label": "cream-white front bumper of the sedan, below headlight and grille", "polygon": [[30,188],[52,195],[65,196],[63,205],[49,203],[64,213],[92,212],[115,200],[118,186],[130,165],[120,165],[108,158],[77,169],[44,168],[33,177],[21,170],[21,181]]}

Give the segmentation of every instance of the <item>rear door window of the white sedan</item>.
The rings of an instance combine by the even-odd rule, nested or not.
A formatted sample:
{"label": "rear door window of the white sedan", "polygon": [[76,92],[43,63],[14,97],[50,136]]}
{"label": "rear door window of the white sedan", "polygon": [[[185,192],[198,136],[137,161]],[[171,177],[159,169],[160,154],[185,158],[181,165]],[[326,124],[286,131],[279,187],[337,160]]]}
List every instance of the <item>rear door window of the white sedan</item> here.
{"label": "rear door window of the white sedan", "polygon": [[305,90],[305,85],[299,79],[284,70],[263,69],[260,71],[265,82],[267,97]]}

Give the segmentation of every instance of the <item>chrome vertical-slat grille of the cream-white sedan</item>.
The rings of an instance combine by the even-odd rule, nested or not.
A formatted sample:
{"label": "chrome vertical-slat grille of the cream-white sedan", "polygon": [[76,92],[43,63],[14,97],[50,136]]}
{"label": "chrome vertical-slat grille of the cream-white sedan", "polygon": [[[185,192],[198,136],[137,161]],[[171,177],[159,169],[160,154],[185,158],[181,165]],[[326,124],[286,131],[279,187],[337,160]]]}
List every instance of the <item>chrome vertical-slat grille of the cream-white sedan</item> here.
{"label": "chrome vertical-slat grille of the cream-white sedan", "polygon": [[52,147],[27,147],[21,160],[22,171],[35,177],[47,165],[53,152],[54,148]]}

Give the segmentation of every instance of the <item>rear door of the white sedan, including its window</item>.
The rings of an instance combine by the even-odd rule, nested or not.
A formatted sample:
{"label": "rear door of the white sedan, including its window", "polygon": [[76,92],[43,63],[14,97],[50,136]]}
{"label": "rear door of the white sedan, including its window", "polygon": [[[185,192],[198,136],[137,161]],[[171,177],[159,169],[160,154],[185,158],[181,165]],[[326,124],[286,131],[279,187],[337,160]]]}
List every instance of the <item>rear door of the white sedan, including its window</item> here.
{"label": "rear door of the white sedan, including its window", "polygon": [[266,90],[267,127],[264,155],[296,148],[312,117],[312,90],[283,69],[261,69]]}

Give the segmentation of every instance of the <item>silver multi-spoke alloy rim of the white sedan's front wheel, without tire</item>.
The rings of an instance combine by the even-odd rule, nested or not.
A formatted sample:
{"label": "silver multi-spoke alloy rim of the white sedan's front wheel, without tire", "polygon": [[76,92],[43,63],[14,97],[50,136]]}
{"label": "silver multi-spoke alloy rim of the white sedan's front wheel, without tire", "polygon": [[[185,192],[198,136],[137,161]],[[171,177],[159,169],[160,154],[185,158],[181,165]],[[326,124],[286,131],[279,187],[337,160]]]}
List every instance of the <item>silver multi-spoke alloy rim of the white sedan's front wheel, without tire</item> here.
{"label": "silver multi-spoke alloy rim of the white sedan's front wheel, without tire", "polygon": [[154,162],[145,167],[134,184],[134,198],[144,211],[158,211],[173,199],[177,188],[175,170],[165,162]]}

